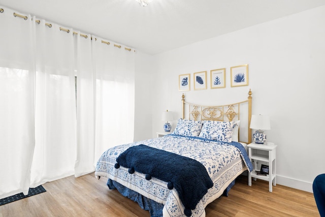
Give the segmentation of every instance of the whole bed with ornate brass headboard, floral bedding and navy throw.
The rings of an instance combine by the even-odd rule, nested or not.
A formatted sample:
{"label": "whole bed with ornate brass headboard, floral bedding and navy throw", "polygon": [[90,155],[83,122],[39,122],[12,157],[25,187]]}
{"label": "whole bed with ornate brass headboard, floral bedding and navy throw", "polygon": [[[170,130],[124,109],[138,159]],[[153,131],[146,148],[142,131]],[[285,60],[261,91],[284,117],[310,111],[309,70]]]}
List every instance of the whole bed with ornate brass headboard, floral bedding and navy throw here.
{"label": "whole bed with ornate brass headboard, floral bedding and navy throw", "polygon": [[95,176],[149,210],[151,216],[205,216],[205,207],[228,195],[235,179],[252,170],[247,154],[252,92],[221,106],[188,103],[164,137],[115,146],[99,159]]}

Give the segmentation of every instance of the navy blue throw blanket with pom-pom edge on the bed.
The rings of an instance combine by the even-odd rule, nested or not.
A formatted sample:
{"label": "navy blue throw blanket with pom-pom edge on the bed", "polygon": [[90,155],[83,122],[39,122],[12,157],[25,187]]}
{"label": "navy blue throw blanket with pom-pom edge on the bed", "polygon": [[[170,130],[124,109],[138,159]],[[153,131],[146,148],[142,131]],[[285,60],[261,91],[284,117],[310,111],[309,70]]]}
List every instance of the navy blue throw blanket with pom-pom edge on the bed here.
{"label": "navy blue throw blanket with pom-pom edge on the bed", "polygon": [[120,165],[129,168],[129,173],[137,171],[146,174],[148,180],[152,176],[168,182],[169,189],[176,189],[186,216],[191,215],[191,210],[213,187],[207,170],[200,162],[147,145],[129,147],[116,161],[115,168]]}

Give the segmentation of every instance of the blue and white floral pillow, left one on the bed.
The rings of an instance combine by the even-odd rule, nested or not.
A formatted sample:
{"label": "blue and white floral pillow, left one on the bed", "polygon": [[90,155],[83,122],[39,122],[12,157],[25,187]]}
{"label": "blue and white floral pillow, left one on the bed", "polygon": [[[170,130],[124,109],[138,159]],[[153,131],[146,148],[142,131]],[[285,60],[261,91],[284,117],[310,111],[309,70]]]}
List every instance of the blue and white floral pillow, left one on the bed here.
{"label": "blue and white floral pillow, left one on the bed", "polygon": [[202,126],[202,121],[185,120],[180,118],[173,134],[180,136],[199,136]]}

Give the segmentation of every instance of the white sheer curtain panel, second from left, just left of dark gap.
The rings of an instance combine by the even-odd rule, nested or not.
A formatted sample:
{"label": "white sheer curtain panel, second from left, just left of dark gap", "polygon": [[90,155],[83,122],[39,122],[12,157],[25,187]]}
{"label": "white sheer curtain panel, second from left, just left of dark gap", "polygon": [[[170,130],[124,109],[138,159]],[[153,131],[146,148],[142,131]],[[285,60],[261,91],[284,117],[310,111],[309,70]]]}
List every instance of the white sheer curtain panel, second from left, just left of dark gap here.
{"label": "white sheer curtain panel, second from left, just left of dark gap", "polygon": [[36,49],[36,144],[31,186],[74,174],[76,94],[73,30],[33,22]]}

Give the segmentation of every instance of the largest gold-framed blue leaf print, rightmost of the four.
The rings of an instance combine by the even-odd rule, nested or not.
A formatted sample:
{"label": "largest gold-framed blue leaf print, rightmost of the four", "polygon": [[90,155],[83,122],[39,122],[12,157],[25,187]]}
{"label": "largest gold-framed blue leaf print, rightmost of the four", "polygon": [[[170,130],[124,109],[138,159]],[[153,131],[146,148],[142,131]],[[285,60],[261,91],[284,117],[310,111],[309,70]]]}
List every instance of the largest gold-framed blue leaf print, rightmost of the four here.
{"label": "largest gold-framed blue leaf print, rightmost of the four", "polygon": [[248,86],[248,64],[230,68],[231,86]]}

